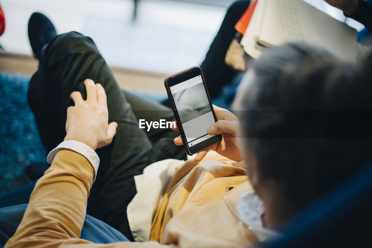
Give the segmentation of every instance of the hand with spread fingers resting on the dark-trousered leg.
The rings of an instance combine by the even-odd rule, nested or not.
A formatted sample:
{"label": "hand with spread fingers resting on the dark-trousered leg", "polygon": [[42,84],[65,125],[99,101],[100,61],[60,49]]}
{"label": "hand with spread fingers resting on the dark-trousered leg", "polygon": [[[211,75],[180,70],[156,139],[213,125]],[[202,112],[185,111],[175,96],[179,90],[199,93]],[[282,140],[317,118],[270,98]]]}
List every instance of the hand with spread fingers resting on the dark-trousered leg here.
{"label": "hand with spread fingers resting on the dark-trousered leg", "polygon": [[67,134],[64,140],[79,141],[95,150],[112,142],[118,123],[108,124],[106,93],[102,85],[94,84],[91,79],[86,79],[84,84],[87,90],[86,101],[80,92],[71,93],[75,106],[67,109]]}

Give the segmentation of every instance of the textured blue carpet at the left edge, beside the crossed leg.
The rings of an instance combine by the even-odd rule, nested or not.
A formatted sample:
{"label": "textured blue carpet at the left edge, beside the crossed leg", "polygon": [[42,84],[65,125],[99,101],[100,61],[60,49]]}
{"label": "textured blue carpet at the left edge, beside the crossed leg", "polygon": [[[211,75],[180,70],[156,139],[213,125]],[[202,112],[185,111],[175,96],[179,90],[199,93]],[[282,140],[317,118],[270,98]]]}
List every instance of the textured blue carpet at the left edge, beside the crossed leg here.
{"label": "textured blue carpet at the left edge, beside the crossed leg", "polygon": [[0,71],[0,195],[27,183],[23,162],[47,162],[27,103],[30,77]]}

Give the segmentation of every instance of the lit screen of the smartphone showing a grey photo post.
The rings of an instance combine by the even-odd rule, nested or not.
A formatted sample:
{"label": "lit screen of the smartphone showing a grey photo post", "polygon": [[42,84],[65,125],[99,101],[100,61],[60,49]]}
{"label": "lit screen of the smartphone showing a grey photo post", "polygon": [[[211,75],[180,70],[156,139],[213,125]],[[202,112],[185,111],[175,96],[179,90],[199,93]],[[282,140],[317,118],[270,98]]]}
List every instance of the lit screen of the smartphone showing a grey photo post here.
{"label": "lit screen of the smartphone showing a grey photo post", "polygon": [[201,75],[170,87],[187,145],[193,146],[215,135],[206,129],[215,123]]}

